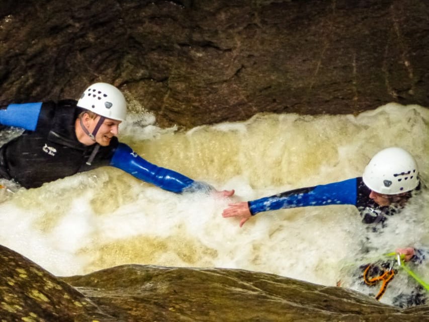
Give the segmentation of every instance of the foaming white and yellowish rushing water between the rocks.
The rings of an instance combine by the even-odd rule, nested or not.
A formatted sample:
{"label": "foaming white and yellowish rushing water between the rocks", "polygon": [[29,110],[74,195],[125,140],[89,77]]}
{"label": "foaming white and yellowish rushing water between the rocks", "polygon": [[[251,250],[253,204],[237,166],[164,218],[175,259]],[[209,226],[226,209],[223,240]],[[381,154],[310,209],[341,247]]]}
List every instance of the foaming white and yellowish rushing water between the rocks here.
{"label": "foaming white and yellowish rushing water between the rocks", "polygon": [[[0,189],[0,244],[57,276],[130,263],[224,267],[323,285],[341,281],[363,292],[353,277],[359,265],[398,247],[429,245],[426,189],[389,218],[382,233],[369,231],[348,205],[261,213],[242,228],[239,219],[221,216],[228,202],[361,176],[372,155],[394,145],[414,155],[428,182],[426,108],[388,104],[358,116],[257,115],[188,132],[153,121],[129,116],[120,140],[154,164],[218,190],[235,189],[235,196],[176,195],[109,167],[38,189],[7,183],[15,193]],[[429,281],[427,261],[415,272]],[[402,271],[391,285],[412,287],[406,279]],[[382,301],[394,295],[387,291]]]}

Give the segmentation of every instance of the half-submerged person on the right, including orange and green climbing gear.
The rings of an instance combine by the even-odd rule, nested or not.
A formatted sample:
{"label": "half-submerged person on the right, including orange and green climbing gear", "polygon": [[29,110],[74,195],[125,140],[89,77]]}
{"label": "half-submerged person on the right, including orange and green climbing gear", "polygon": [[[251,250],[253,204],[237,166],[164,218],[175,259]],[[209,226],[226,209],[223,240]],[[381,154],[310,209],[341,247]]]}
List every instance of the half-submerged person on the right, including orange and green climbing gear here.
{"label": "half-submerged person on the right, including orange and green climbing gear", "polygon": [[[385,224],[386,216],[399,212],[411,198],[412,191],[418,190],[419,186],[418,169],[414,158],[402,148],[390,147],[381,150],[370,160],[362,177],[286,191],[248,202],[231,203],[223,211],[222,216],[241,218],[241,227],[249,218],[264,211],[350,204],[358,208],[362,221],[373,224],[370,228],[377,231],[379,226]],[[395,253],[403,256],[404,261],[421,264],[428,252],[406,247],[397,248]],[[393,263],[396,263],[396,260]],[[375,296],[376,299],[380,299],[387,283],[397,273],[393,265],[391,260],[383,258],[375,263],[360,266],[352,275],[358,284],[364,284],[362,279],[364,276],[365,283],[370,286],[376,286],[375,279],[380,281],[383,278],[383,282],[380,282],[383,287]],[[414,285],[410,293],[399,291],[393,299],[393,304],[399,307],[424,304],[427,298],[425,290],[418,284]],[[374,288],[370,288],[369,292],[373,294]]]}

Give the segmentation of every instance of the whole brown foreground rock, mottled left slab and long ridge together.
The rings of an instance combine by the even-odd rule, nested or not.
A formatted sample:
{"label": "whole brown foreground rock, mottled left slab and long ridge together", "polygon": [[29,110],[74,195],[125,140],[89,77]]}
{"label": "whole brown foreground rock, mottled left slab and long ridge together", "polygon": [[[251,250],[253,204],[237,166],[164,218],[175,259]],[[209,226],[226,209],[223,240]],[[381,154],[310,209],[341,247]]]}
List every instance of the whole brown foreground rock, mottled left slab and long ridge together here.
{"label": "whole brown foreground rock, mottled left slab and long ridge together", "polygon": [[427,305],[400,311],[346,289],[243,270],[125,265],[57,278],[0,246],[2,322],[419,321],[427,313]]}

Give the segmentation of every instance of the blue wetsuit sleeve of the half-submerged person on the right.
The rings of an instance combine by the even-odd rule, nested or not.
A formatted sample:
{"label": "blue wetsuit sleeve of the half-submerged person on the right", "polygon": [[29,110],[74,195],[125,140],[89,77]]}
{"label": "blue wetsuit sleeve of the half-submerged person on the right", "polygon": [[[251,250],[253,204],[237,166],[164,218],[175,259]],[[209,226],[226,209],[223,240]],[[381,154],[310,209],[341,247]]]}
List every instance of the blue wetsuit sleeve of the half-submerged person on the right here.
{"label": "blue wetsuit sleeve of the half-submerged person on the right", "polygon": [[327,185],[286,191],[271,197],[249,201],[252,215],[258,212],[285,208],[324,205],[356,205],[357,178]]}

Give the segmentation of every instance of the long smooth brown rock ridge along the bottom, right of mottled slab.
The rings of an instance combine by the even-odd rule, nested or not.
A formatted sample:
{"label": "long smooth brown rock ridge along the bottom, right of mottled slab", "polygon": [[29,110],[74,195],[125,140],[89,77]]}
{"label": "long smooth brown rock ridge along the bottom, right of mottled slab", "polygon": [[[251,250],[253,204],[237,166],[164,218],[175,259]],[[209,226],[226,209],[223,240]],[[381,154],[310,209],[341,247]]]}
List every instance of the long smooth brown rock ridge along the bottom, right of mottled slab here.
{"label": "long smooth brown rock ridge along the bottom, right of mottled slab", "polygon": [[128,321],[416,321],[429,309],[244,270],[126,265],[65,280]]}

